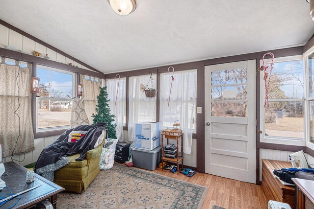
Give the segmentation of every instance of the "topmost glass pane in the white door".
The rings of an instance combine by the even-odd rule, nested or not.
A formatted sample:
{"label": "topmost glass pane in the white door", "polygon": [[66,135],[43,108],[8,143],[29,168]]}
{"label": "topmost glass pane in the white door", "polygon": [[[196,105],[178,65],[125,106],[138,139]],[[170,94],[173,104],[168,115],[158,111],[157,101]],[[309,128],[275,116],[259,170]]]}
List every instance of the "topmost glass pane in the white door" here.
{"label": "topmost glass pane in the white door", "polygon": [[246,83],[247,68],[211,72],[211,85]]}

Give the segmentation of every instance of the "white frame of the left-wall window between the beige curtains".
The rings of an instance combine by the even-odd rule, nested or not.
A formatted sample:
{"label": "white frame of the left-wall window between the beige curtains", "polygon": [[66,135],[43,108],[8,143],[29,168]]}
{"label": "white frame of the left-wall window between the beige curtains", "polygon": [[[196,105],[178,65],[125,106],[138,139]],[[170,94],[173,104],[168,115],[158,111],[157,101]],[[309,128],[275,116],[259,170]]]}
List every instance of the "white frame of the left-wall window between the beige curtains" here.
{"label": "white frame of the left-wall window between the beige curtains", "polygon": [[[37,69],[42,67],[45,70],[52,70],[56,72],[62,72],[62,73],[67,73],[72,75],[72,82],[73,82],[73,94],[72,97],[75,97],[77,95],[76,93],[76,87],[77,87],[77,73],[71,72],[68,70],[62,70],[62,69],[57,69],[57,68],[52,68],[48,67],[45,65],[37,65],[36,66],[36,76],[37,76]],[[36,97],[36,133],[41,133],[41,132],[50,132],[50,131],[58,131],[58,130],[64,130],[64,129],[70,129],[71,126],[56,126],[56,127],[49,127],[49,128],[38,128],[38,103],[39,100],[59,100],[59,101],[72,101],[73,99],[70,98],[57,98],[57,97]],[[70,119],[70,118],[69,118]]]}

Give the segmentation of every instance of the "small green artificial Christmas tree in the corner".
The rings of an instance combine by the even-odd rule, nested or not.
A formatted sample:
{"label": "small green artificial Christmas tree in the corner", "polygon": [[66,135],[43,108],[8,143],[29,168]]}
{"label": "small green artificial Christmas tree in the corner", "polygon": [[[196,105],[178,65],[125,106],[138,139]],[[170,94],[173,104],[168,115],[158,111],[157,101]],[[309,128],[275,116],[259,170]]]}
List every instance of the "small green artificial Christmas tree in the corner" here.
{"label": "small green artificial Christmas tree in the corner", "polygon": [[96,105],[96,115],[93,114],[93,124],[106,122],[108,127],[108,138],[117,139],[116,137],[116,124],[112,124],[115,116],[110,114],[107,87],[100,88],[100,93],[97,96],[98,104]]}

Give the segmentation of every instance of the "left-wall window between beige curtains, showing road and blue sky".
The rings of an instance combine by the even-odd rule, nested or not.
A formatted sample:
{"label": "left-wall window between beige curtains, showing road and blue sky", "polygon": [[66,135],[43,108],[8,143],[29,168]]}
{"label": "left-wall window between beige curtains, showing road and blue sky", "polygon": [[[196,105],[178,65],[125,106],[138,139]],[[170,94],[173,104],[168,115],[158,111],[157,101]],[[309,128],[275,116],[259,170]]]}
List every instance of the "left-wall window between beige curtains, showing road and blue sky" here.
{"label": "left-wall window between beige curtains, showing road and blue sky", "polygon": [[36,97],[36,132],[69,128],[76,74],[37,65],[37,77],[40,84]]}

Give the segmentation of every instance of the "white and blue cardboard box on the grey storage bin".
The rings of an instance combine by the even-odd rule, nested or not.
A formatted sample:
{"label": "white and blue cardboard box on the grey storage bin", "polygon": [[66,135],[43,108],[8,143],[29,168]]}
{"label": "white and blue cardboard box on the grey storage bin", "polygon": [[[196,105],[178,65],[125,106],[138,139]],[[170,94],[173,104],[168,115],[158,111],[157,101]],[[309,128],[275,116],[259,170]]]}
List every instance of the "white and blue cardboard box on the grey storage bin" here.
{"label": "white and blue cardboard box on the grey storage bin", "polygon": [[159,123],[142,122],[135,124],[135,148],[153,150],[159,146]]}

